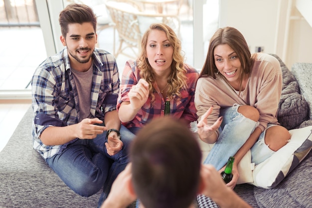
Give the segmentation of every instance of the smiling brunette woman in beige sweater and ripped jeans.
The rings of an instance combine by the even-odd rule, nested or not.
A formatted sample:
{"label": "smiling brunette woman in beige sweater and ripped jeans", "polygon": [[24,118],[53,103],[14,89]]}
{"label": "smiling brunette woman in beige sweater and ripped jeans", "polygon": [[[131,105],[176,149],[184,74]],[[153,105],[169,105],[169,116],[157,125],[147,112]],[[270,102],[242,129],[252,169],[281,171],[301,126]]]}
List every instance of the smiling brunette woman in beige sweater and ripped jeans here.
{"label": "smiling brunette woman in beige sweater and ripped jeans", "polygon": [[233,27],[215,32],[195,91],[197,132],[202,141],[215,143],[204,164],[220,170],[229,156],[235,157],[231,188],[239,177],[237,164],[249,149],[257,165],[290,139],[277,120],[281,91],[282,70],[275,57],[251,54]]}

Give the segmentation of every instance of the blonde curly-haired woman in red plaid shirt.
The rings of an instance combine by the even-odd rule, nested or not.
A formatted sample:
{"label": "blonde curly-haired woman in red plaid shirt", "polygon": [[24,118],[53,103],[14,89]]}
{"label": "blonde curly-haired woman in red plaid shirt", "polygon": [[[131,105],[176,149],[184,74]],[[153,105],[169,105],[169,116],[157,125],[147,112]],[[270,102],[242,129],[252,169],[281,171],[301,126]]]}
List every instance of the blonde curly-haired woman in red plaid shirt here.
{"label": "blonde curly-haired woman in red plaid shirt", "polygon": [[163,23],[151,24],[141,41],[141,55],[123,71],[117,110],[122,123],[136,133],[150,120],[170,114],[189,124],[197,120],[194,93],[198,72],[184,63],[181,42]]}

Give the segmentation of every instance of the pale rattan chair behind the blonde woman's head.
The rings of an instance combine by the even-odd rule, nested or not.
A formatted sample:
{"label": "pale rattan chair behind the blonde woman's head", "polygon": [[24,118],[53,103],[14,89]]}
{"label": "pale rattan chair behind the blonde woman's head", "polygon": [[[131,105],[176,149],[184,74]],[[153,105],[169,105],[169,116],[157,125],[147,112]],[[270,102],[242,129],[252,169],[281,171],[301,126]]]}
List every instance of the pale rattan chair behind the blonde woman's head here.
{"label": "pale rattan chair behind the blonde woman's head", "polygon": [[[119,36],[119,47],[113,53],[117,58],[123,54],[133,59],[138,58],[142,34],[155,22],[169,25],[178,35],[180,21],[176,15],[144,12],[140,4],[133,0],[108,0],[106,7]],[[126,51],[131,49],[131,52]]]}

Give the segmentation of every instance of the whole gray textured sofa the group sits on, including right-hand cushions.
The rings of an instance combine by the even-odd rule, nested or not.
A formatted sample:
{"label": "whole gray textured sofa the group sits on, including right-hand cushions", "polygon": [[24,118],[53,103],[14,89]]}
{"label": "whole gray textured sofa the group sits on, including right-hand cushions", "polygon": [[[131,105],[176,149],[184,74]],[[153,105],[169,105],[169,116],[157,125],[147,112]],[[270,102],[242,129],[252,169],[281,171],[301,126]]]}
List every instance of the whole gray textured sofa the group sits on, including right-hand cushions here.
{"label": "whole gray textured sofa the group sits on, including right-hand cushions", "polygon": [[[312,64],[294,64],[291,72],[279,61],[283,70],[279,121],[288,129],[312,125]],[[32,149],[31,118],[29,108],[0,152],[0,208],[96,208],[102,191],[89,198],[78,196]],[[273,189],[241,184],[234,190],[253,207],[308,208],[311,171],[312,152]]]}

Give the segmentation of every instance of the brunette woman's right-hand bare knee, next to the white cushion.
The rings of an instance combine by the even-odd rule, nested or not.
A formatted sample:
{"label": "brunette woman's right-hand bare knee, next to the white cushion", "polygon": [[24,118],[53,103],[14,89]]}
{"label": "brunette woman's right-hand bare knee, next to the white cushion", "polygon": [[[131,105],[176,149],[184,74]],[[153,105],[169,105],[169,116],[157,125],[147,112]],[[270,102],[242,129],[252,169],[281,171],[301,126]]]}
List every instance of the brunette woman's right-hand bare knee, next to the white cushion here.
{"label": "brunette woman's right-hand bare knee, next to the white cushion", "polygon": [[277,151],[285,146],[290,138],[291,134],[286,128],[283,126],[272,126],[266,131],[265,143],[270,149]]}

